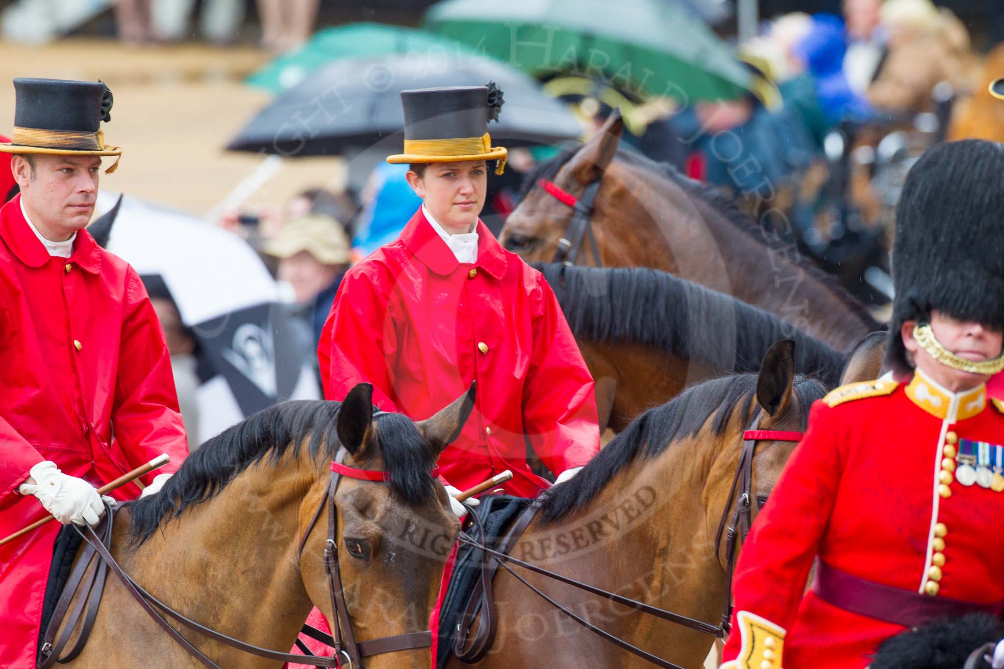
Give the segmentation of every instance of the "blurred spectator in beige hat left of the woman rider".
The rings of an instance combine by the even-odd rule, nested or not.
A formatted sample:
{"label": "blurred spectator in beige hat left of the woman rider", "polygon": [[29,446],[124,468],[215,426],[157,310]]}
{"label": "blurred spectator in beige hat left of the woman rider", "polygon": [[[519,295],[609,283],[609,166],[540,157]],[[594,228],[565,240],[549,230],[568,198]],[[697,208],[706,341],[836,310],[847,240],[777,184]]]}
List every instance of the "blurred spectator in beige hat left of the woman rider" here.
{"label": "blurred spectator in beige hat left of the woman rider", "polygon": [[298,314],[309,324],[316,349],[320,331],[349,266],[348,237],[341,224],[310,214],[292,221],[262,246],[279,259],[278,279],[293,291]]}

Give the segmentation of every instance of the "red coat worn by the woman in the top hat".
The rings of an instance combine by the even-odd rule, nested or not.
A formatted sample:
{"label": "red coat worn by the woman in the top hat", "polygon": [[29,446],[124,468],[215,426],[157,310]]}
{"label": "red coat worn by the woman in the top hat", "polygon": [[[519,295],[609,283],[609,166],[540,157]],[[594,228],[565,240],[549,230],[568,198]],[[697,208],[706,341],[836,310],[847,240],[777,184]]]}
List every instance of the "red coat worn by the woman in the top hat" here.
{"label": "red coat worn by the woman in the top hat", "polygon": [[380,408],[415,419],[477,381],[440,458],[461,489],[512,469],[504,487],[535,496],[547,482],[527,466],[527,439],[555,473],[599,451],[592,378],[550,286],[480,221],[478,260],[459,264],[420,209],[342,279],[317,355],[327,399],[368,381]]}

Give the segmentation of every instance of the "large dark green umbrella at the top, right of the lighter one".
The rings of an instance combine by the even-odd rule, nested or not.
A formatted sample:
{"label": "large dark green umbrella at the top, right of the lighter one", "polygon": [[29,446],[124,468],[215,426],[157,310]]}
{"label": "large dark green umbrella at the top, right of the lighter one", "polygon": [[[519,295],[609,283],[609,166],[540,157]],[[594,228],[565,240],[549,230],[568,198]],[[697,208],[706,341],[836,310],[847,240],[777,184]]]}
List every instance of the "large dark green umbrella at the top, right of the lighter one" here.
{"label": "large dark green umbrella at the top, right of the lighter one", "polygon": [[733,99],[752,75],[679,0],[443,0],[430,30],[538,78],[603,77],[645,95]]}

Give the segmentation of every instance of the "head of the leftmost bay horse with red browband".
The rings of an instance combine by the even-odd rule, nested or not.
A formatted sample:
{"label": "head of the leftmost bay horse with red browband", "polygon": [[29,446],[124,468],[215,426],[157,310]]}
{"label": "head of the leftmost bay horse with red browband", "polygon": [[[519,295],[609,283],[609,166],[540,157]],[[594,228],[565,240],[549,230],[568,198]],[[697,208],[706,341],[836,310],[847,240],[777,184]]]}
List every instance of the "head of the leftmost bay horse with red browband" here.
{"label": "head of the leftmost bay horse with red browband", "polygon": [[[368,383],[345,396],[338,441],[347,451],[344,464],[386,472],[388,484],[344,477],[334,493],[345,607],[354,634],[363,639],[429,629],[443,569],[460,531],[446,488],[429,472],[459,436],[474,408],[475,389],[472,385],[432,417],[416,422],[402,414],[374,412],[371,399]],[[301,532],[307,528],[301,526]],[[323,555],[325,539],[324,532],[314,531],[304,554]],[[302,568],[311,600],[324,601],[328,581],[323,563],[304,557]],[[331,620],[330,605],[319,608]],[[428,662],[429,649],[421,647],[375,655],[365,666],[419,667]]]}

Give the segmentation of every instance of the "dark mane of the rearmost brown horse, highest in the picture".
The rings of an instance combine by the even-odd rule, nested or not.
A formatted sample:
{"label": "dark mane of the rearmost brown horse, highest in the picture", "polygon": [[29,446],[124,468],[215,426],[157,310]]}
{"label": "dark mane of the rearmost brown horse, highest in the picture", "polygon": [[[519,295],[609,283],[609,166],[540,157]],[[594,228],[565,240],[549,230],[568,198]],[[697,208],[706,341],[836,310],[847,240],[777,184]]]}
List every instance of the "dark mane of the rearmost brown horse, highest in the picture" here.
{"label": "dark mane of the rearmost brown horse, highest in the picture", "polygon": [[[536,188],[537,183],[541,179],[553,181],[554,177],[557,176],[561,168],[564,166],[564,164],[568,162],[568,160],[570,160],[576,152],[578,152],[582,145],[583,144],[581,142],[566,144],[554,157],[535,165],[523,180],[523,186],[520,190],[519,199],[523,200],[527,195],[529,195],[530,192]],[[783,257],[792,265],[800,270],[803,270],[814,281],[825,287],[826,290],[840,300],[841,304],[843,304],[855,318],[867,327],[868,331],[873,332],[875,330],[883,329],[883,325],[871,318],[871,314],[868,313],[868,310],[864,307],[864,305],[855,300],[846,290],[844,290],[834,277],[820,270],[814,263],[812,263],[811,260],[801,254],[791,254],[790,246],[785,245],[782,240],[778,239],[776,236],[768,234],[763,227],[757,225],[753,219],[739,209],[735,199],[721,189],[718,189],[710,184],[703,184],[697,180],[691,179],[686,175],[681,174],[680,171],[669,162],[657,162],[640,151],[623,144],[617,147],[616,158],[626,164],[639,168],[643,172],[654,175],[662,175],[679,186],[684,193],[693,196],[698,200],[704,201],[712,209],[725,217],[729,223],[735,226],[743,234],[752,237],[754,241],[758,242],[762,246],[783,254]]]}

